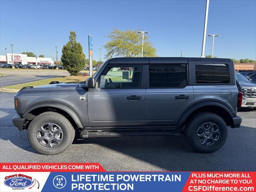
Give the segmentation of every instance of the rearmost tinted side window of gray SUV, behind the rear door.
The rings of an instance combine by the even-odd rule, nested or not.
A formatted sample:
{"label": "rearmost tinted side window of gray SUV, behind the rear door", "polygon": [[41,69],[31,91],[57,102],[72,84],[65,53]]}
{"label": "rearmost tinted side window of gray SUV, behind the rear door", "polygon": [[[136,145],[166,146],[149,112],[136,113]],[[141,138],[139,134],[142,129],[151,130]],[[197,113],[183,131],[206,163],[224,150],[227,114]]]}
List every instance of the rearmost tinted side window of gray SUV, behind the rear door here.
{"label": "rearmost tinted side window of gray SUV, behind the rear door", "polygon": [[226,64],[196,64],[197,83],[229,83],[230,74]]}

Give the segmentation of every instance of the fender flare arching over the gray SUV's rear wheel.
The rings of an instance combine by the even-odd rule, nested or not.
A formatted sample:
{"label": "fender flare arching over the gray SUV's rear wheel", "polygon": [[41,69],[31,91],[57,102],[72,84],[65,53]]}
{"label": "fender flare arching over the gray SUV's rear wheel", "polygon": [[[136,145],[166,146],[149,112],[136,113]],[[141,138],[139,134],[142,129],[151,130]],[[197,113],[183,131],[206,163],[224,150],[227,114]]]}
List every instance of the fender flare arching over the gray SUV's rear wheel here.
{"label": "fender flare arching over the gray SUV's rear wheel", "polygon": [[222,103],[219,103],[219,102],[215,102],[215,101],[204,101],[204,102],[199,102],[197,104],[194,104],[192,106],[190,106],[183,114],[182,114],[182,117],[180,118],[179,122],[178,122],[178,126],[182,126],[188,116],[190,114],[192,114],[192,112],[194,112],[195,110],[201,108],[201,107],[206,107],[206,106],[217,106],[217,107],[221,107],[222,109],[224,109],[226,112],[228,112],[228,114],[230,115],[230,117],[233,117],[233,114],[232,112],[230,111],[230,109],[225,106],[224,104]]}

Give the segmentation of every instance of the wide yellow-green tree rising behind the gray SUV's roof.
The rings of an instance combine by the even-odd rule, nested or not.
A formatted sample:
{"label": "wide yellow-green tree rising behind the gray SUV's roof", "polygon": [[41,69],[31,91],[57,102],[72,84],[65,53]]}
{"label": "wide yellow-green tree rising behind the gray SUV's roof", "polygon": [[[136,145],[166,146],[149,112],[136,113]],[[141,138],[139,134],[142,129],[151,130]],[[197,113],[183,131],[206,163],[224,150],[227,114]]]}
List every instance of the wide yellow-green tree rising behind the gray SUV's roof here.
{"label": "wide yellow-green tree rising behind the gray SUV's roof", "polygon": [[[136,30],[121,31],[114,29],[108,35],[110,39],[105,45],[106,58],[112,57],[138,57],[141,54],[142,40],[141,35]],[[145,57],[156,56],[156,48],[148,41],[148,36],[144,36],[144,53]]]}

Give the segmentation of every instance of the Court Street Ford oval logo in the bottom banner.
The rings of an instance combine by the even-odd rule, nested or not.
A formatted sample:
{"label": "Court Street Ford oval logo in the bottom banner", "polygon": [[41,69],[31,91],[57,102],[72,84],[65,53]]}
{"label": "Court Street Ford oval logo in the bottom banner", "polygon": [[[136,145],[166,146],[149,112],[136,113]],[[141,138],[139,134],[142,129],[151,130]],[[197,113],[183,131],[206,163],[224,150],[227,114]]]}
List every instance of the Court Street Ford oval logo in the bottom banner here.
{"label": "Court Street Ford oval logo in the bottom banner", "polygon": [[23,174],[14,174],[5,177],[4,184],[11,188],[26,188],[33,184],[32,177]]}

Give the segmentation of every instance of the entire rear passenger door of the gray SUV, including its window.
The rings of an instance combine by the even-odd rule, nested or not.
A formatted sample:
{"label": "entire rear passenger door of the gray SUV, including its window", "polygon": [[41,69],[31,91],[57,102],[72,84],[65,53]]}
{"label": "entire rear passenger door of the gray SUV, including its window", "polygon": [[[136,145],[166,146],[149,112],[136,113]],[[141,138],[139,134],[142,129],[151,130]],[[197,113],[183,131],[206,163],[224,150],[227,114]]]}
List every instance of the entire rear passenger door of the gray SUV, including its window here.
{"label": "entire rear passenger door of the gray SUV, including its window", "polygon": [[146,90],[146,124],[176,126],[182,114],[194,102],[193,87],[187,85],[186,63],[149,65]]}

